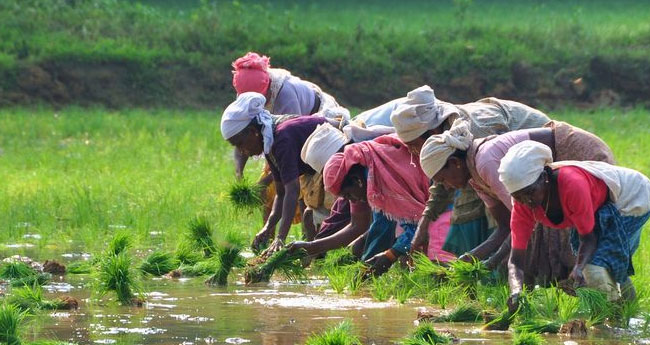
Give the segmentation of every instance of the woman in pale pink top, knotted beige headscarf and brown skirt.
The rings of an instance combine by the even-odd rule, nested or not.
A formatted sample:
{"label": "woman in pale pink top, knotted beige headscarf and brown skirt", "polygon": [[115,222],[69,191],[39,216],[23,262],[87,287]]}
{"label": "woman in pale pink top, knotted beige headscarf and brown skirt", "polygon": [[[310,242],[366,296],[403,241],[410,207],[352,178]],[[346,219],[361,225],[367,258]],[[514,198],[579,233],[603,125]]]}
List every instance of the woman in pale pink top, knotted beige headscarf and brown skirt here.
{"label": "woman in pale pink top, knotted beige headscarf and brown skirt", "polygon": [[[544,128],[522,129],[506,134],[473,140],[468,124],[456,120],[450,130],[433,135],[420,152],[422,169],[429,178],[448,188],[468,184],[477,192],[498,224],[497,230],[483,243],[469,251],[468,256],[486,259],[499,246],[503,250],[489,260],[496,266],[509,252],[510,194],[499,181],[498,168],[503,156],[513,145],[534,140],[552,148],[555,160],[599,160],[613,163],[613,153],[598,137],[564,122],[549,122]],[[531,240],[533,248],[526,261],[527,281],[540,283],[566,279],[574,264],[574,256],[566,243],[557,245],[557,238],[568,238],[568,232],[544,230]],[[546,235],[546,237],[545,237]]]}

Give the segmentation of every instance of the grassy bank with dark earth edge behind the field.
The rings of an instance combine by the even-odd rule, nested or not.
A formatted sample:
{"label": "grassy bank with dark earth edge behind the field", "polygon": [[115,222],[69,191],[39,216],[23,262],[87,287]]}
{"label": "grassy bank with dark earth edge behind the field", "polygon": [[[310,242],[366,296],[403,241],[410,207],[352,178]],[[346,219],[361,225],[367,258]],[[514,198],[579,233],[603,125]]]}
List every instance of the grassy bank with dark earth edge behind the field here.
{"label": "grassy bank with dark earth edge behind the field", "polygon": [[3,1],[0,104],[223,105],[230,62],[248,50],[352,106],[424,83],[452,101],[548,106],[649,94],[642,1],[156,4]]}

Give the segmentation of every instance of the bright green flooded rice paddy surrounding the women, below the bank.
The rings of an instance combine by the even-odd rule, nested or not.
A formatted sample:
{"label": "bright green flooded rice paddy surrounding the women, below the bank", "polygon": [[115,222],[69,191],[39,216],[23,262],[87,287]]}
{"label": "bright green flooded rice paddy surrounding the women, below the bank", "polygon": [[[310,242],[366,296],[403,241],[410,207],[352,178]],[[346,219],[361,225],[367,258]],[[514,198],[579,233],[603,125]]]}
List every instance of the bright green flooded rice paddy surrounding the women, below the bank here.
{"label": "bright green flooded rice paddy surrounding the women, below the bank", "polygon": [[[0,328],[9,329],[7,320],[22,315],[7,309],[20,296],[20,310],[28,313],[17,326],[22,343],[330,344],[314,333],[347,320],[350,329],[344,324],[337,330],[363,344],[422,344],[413,340],[416,335],[407,339],[418,314],[428,315],[422,307],[432,310],[429,319],[437,321],[432,325],[439,334],[449,331],[468,344],[522,343],[522,333],[512,329],[555,329],[574,319],[594,327],[583,337],[544,335],[541,340],[629,344],[645,339],[647,226],[635,255],[635,303],[616,306],[587,292],[578,299],[555,288],[539,289],[530,293],[530,310],[517,316],[509,332],[481,330],[481,314],[498,314],[507,290],[498,277],[480,270],[417,265],[412,273],[395,268],[384,278],[362,281],[358,265],[343,266],[344,258],[330,255],[306,271],[289,271],[291,279],[278,269],[268,283],[244,285],[243,261],[253,256],[246,244],[262,220],[259,211],[230,202],[234,166],[232,149],[219,134],[220,113],[0,111],[0,257],[55,260],[68,268],[67,274],[44,278],[41,289],[34,283],[40,278],[29,274],[32,280],[21,288],[16,282],[23,280],[15,277],[22,268],[0,265],[6,296]],[[550,115],[596,133],[621,165],[650,175],[648,110],[567,109]],[[255,180],[260,169],[261,162],[253,161],[246,176]],[[299,238],[297,228],[290,237]],[[227,285],[206,285],[224,265],[233,267]],[[172,269],[178,274],[159,277]],[[78,309],[53,310],[69,309],[72,302],[63,296],[74,299]],[[459,310],[468,305],[476,310]],[[464,315],[458,317],[463,322],[450,322],[449,312]],[[329,336],[340,335],[335,331]],[[12,343],[6,339],[0,338]]]}

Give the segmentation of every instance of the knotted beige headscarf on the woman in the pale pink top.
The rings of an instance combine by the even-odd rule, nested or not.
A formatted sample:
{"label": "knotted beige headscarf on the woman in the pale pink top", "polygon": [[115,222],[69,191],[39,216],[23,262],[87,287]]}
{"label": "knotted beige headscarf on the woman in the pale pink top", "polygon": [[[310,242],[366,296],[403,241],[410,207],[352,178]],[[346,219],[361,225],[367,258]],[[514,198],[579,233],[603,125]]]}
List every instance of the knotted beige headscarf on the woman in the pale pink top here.
{"label": "knotted beige headscarf on the woman in the pale pink top", "polygon": [[448,131],[432,135],[424,143],[420,151],[422,170],[428,178],[433,178],[456,150],[467,151],[473,139],[469,123],[463,119],[456,119]]}

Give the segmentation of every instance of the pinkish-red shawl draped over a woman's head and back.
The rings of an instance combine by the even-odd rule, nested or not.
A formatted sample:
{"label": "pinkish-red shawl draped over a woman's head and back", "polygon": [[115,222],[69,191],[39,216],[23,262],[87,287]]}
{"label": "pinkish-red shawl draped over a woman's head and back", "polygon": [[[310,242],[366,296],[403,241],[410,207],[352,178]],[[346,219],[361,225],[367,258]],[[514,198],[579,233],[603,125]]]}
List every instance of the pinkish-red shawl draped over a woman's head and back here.
{"label": "pinkish-red shawl draped over a woman's head and back", "polygon": [[429,198],[429,180],[419,164],[411,165],[410,160],[408,148],[395,134],[348,145],[325,164],[325,190],[339,195],[345,176],[360,164],[368,169],[370,207],[390,219],[417,222]]}

